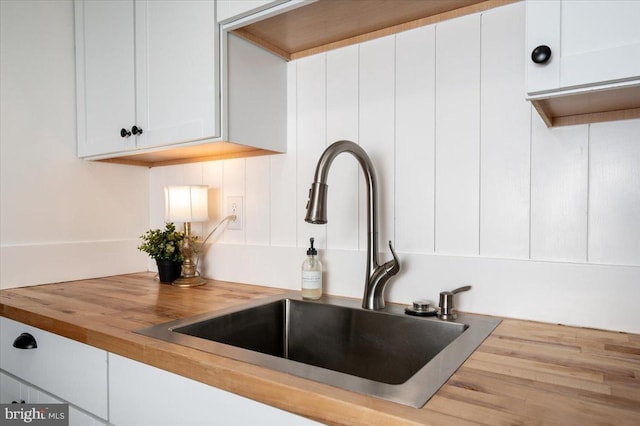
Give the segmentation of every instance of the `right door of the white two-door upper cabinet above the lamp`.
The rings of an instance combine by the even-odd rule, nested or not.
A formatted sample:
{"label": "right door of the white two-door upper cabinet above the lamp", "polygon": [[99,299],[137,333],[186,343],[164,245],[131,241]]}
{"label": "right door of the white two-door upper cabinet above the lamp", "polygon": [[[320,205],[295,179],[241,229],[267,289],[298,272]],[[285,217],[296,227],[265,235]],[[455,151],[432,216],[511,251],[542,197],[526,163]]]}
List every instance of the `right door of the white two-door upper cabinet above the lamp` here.
{"label": "right door of the white two-door upper cabinet above the lamp", "polygon": [[214,1],[137,1],[138,148],[220,136]]}

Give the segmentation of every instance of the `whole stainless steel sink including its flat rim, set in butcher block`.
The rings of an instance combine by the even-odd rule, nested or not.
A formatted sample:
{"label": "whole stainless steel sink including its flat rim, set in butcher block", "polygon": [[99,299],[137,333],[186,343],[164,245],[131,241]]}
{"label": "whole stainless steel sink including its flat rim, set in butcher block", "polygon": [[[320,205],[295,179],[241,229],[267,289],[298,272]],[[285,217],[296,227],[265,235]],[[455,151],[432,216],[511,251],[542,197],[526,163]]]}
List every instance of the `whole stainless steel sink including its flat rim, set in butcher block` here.
{"label": "whole stainless steel sink including its flat rim, set in butcher block", "polygon": [[[275,299],[275,300],[274,300]],[[408,316],[399,306],[298,295],[138,330],[181,344],[413,407],[421,407],[500,321]]]}

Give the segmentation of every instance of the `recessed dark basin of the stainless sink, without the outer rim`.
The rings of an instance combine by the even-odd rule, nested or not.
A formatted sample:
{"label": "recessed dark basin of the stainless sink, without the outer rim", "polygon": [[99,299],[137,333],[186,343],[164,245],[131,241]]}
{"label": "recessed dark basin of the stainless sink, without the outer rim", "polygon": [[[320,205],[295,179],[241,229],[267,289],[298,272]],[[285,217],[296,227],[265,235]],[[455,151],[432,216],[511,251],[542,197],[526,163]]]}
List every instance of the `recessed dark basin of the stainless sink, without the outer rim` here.
{"label": "recessed dark basin of the stainless sink, without the outer rim", "polygon": [[173,331],[399,385],[466,328],[283,299]]}

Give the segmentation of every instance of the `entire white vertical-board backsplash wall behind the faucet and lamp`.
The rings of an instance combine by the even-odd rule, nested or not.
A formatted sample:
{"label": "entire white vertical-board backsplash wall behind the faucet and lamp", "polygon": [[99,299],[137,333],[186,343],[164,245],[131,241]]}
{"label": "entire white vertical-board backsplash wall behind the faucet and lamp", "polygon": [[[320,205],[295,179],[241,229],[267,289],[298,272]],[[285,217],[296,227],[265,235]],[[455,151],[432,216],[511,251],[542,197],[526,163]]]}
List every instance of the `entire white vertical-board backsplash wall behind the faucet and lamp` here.
{"label": "entire white vertical-board backsplash wall behind the faucet and lamp", "polygon": [[[329,175],[329,223],[304,222],[315,164],[338,139],[369,153],[380,187],[380,247],[403,271],[388,299],[437,302],[471,284],[462,310],[640,332],[640,120],[547,129],[524,100],[524,5],[289,64],[287,154],[151,170],[162,186],[245,197],[245,227],[207,253],[206,275],[297,288],[308,238],[325,290],[360,297],[363,179],[350,156]],[[618,315],[597,315],[617,294]]]}

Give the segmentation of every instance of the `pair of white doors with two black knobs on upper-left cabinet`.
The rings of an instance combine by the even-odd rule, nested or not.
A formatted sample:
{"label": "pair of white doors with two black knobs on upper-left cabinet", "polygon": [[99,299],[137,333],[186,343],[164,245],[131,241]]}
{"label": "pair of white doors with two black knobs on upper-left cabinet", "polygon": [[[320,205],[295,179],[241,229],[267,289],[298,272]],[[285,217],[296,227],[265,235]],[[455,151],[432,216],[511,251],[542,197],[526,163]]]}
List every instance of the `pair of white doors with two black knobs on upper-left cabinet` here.
{"label": "pair of white doors with two black knobs on upper-left cabinet", "polygon": [[220,136],[215,2],[76,1],[75,13],[80,157]]}

